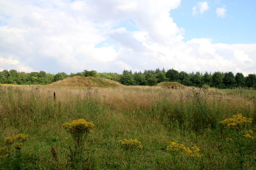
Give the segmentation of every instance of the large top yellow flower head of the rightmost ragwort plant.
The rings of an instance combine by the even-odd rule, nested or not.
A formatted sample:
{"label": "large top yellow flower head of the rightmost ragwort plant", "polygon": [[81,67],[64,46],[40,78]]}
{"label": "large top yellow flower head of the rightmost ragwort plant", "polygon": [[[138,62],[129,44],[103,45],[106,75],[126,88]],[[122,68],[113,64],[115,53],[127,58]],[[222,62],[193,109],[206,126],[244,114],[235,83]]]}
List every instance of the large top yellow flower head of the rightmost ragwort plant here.
{"label": "large top yellow flower head of the rightmost ragwort plant", "polygon": [[243,117],[242,114],[236,114],[233,115],[232,118],[227,118],[219,123],[223,124],[226,126],[226,128],[234,129],[237,126],[244,125],[246,123],[251,123],[252,118],[246,118]]}

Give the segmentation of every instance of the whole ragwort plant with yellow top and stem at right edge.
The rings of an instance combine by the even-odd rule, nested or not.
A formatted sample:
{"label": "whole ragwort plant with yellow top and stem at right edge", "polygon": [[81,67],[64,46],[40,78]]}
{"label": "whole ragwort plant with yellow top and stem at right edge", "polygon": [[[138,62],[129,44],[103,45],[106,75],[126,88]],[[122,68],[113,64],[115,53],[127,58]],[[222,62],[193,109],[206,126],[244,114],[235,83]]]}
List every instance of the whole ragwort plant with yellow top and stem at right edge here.
{"label": "whole ragwort plant with yellow top and stem at right edge", "polygon": [[243,164],[246,161],[245,154],[249,151],[250,141],[254,139],[251,135],[252,130],[250,128],[252,118],[243,117],[242,114],[233,115],[232,118],[227,118],[220,122],[225,126],[228,137],[226,141],[229,142],[231,149],[234,152],[234,158],[238,160],[239,169],[243,169]]}

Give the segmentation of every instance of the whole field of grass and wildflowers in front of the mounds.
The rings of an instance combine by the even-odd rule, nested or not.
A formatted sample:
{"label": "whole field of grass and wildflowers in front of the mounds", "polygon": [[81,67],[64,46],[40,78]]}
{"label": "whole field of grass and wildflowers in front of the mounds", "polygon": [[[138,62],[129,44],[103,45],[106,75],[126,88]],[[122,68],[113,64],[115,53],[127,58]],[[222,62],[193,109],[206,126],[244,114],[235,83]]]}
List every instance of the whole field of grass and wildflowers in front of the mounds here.
{"label": "whole field of grass and wildflowers in front of the mounds", "polygon": [[[256,168],[255,91],[105,87],[1,85],[0,147],[28,137],[0,148],[0,169]],[[220,123],[233,115],[232,126]],[[62,126],[79,119],[94,124],[80,150]]]}

